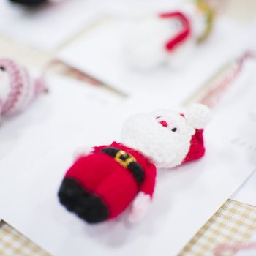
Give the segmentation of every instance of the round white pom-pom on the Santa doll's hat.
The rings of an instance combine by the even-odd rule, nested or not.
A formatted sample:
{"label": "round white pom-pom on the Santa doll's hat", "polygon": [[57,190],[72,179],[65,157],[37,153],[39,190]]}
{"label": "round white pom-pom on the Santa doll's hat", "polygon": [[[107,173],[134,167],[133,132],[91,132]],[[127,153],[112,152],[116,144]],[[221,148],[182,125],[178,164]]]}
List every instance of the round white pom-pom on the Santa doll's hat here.
{"label": "round white pom-pom on the Santa doll's hat", "polygon": [[203,129],[211,119],[211,113],[206,105],[195,103],[187,109],[187,123],[195,129]]}

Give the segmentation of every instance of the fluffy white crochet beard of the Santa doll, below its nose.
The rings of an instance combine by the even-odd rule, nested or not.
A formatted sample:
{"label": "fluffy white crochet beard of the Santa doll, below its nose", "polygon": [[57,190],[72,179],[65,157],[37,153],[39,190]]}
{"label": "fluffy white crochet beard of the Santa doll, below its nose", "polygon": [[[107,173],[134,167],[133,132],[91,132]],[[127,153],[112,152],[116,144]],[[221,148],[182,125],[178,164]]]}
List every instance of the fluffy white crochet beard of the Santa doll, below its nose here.
{"label": "fluffy white crochet beard of the Santa doll, below its nose", "polygon": [[132,116],[124,124],[121,140],[153,162],[157,167],[180,165],[189,151],[191,134],[187,128],[175,134],[162,127],[151,114]]}

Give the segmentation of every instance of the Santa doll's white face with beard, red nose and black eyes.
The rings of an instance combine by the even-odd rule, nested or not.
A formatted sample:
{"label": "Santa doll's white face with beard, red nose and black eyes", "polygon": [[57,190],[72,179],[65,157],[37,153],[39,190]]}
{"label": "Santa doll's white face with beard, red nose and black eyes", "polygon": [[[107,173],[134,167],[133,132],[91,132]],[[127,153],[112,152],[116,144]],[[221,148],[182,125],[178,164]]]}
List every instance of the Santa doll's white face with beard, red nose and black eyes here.
{"label": "Santa doll's white face with beard, red nose and black eyes", "polygon": [[158,167],[170,168],[186,157],[194,133],[181,114],[157,111],[132,116],[121,135],[124,144],[141,151]]}

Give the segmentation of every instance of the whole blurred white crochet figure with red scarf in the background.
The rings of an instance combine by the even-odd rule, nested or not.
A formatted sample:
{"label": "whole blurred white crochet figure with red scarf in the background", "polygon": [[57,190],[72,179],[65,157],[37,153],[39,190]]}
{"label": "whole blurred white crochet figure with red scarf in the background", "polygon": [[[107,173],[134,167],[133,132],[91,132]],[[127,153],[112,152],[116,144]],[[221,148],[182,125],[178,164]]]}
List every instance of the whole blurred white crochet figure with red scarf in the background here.
{"label": "whole blurred white crochet figure with red scarf in the background", "polygon": [[197,0],[197,5],[141,19],[126,42],[129,64],[137,69],[183,67],[197,42],[210,34],[213,17],[211,8]]}

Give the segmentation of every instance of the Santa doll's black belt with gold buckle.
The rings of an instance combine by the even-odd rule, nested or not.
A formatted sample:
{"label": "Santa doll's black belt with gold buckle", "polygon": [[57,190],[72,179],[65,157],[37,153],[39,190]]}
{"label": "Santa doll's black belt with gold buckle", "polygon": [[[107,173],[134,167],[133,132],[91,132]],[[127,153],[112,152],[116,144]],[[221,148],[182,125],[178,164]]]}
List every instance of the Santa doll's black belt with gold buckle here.
{"label": "Santa doll's black belt with gold buckle", "polygon": [[138,185],[142,184],[144,180],[144,170],[143,167],[141,167],[141,165],[136,161],[135,157],[132,157],[131,154],[125,151],[112,147],[103,148],[102,152],[108,154],[110,157],[113,157],[116,162],[129,170]]}

